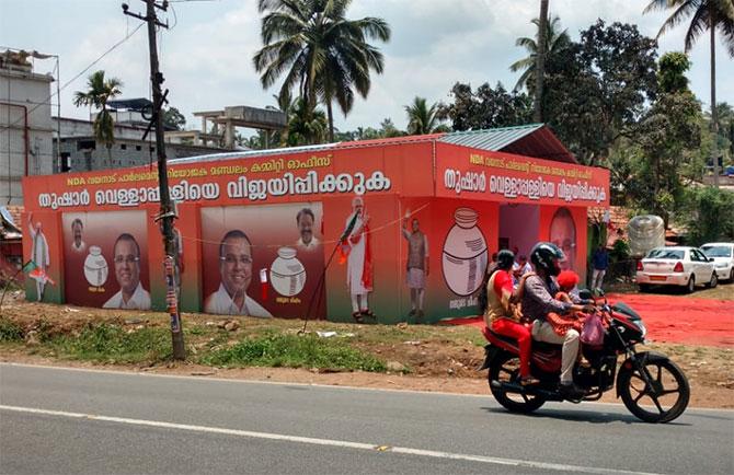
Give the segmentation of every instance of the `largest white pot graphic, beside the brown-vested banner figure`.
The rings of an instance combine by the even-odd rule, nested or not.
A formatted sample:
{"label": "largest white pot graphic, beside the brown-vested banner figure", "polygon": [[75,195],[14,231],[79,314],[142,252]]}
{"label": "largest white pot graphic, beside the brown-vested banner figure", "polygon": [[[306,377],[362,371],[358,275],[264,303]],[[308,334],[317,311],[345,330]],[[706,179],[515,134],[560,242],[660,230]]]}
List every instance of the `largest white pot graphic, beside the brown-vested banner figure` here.
{"label": "largest white pot graphic, beside the brown-vested banner figure", "polygon": [[454,212],[456,224],[444,242],[444,280],[457,296],[474,293],[486,270],[486,241],[477,227],[478,218],[475,210],[458,208]]}

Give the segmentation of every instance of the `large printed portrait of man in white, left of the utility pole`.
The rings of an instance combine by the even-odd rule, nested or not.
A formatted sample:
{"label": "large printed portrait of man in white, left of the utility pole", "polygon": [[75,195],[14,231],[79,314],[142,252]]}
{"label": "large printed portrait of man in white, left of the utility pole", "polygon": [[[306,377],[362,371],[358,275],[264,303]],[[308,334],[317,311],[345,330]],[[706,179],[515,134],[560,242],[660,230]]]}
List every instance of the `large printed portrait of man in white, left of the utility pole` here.
{"label": "large printed portrait of man in white, left of the utility pole", "polygon": [[140,283],[140,246],[133,234],[123,233],[115,241],[115,278],[119,291],[102,308],[125,310],[149,310],[150,293]]}

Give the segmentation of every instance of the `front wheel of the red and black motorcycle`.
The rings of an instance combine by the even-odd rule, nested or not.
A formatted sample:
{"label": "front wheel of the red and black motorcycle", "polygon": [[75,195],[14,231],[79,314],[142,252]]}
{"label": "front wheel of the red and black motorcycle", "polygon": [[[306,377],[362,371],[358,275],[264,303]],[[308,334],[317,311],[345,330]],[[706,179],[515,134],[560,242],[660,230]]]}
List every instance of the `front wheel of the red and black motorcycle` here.
{"label": "front wheel of the red and black motorcycle", "polygon": [[622,402],[630,413],[645,422],[669,422],[688,407],[688,379],[668,359],[645,360],[644,368],[651,376],[650,386],[645,384],[640,369],[634,364],[629,369],[627,364],[622,364],[617,380]]}

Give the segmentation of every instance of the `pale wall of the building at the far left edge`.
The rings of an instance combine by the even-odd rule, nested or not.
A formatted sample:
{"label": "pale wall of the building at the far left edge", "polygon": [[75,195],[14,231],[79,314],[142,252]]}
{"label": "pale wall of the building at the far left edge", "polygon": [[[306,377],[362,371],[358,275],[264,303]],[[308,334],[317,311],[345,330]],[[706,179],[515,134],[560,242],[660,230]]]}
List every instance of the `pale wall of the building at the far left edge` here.
{"label": "pale wall of the building at the far left edge", "polygon": [[3,204],[23,204],[21,177],[26,172],[43,175],[54,170],[51,81],[50,76],[0,68],[0,201]]}

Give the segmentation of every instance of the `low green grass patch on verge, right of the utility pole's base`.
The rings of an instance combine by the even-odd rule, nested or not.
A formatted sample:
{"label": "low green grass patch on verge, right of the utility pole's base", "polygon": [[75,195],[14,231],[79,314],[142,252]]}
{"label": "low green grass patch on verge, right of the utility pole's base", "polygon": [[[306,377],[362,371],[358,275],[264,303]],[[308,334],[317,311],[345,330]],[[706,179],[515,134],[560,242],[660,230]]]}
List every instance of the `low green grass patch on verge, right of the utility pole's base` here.
{"label": "low green grass patch on verge, right of the utility pole's base", "polygon": [[382,360],[353,348],[343,339],[314,335],[266,334],[243,339],[200,358],[218,367],[328,368],[383,372]]}

